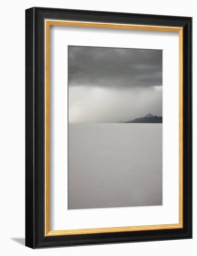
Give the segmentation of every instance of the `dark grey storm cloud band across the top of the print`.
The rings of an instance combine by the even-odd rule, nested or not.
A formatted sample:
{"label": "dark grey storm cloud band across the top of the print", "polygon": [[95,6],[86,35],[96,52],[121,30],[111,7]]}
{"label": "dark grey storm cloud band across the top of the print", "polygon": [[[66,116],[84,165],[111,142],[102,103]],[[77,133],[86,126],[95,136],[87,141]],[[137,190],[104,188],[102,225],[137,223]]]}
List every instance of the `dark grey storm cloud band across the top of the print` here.
{"label": "dark grey storm cloud band across the top of the print", "polygon": [[148,88],[162,85],[162,50],[68,47],[69,86]]}

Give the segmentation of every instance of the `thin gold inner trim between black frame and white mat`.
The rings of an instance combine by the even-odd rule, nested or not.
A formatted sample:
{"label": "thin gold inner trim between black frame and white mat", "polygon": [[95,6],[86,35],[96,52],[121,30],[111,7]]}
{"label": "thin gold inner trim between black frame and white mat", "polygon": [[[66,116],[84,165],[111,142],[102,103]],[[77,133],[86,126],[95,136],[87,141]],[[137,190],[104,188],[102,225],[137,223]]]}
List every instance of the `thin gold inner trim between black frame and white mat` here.
{"label": "thin gold inner trim between black frame and white mat", "polygon": [[[179,223],[131,227],[69,229],[50,231],[50,26],[103,27],[179,33]],[[45,236],[66,236],[183,228],[183,27],[162,27],[118,23],[45,20]]]}

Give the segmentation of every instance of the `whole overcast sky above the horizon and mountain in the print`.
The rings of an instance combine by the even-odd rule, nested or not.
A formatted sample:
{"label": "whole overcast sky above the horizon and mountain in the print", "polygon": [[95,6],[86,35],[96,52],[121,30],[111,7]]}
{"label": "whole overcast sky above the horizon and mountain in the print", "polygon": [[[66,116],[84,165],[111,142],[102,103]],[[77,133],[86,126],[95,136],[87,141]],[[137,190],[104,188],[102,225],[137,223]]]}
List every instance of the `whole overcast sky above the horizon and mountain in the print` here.
{"label": "whole overcast sky above the horizon and mountain in the print", "polygon": [[162,115],[162,50],[68,46],[69,122]]}

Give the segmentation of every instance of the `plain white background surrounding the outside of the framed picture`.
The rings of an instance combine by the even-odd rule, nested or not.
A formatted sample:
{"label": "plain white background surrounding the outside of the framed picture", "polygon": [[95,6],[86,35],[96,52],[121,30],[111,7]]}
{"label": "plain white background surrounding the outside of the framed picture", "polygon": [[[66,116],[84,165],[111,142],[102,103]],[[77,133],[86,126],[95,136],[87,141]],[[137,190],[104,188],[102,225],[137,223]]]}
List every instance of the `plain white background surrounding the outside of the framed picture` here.
{"label": "plain white background surrounding the outside of the framed picture", "polygon": [[33,6],[193,17],[193,131],[197,130],[195,0],[7,0],[0,11],[1,255],[196,255],[197,135],[193,135],[193,239],[33,250],[25,236],[25,9]]}

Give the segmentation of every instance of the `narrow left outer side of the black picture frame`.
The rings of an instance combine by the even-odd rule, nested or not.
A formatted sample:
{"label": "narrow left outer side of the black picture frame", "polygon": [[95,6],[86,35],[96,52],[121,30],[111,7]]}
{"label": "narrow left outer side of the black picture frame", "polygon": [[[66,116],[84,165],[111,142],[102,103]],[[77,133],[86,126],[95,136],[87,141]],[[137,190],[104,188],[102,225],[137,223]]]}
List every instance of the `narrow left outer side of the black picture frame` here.
{"label": "narrow left outer side of the black picture frame", "polygon": [[35,208],[34,208],[34,7],[25,12],[25,245],[35,248]]}

